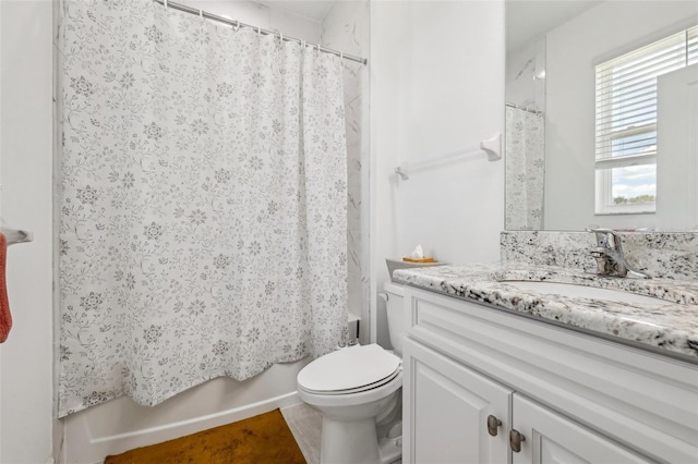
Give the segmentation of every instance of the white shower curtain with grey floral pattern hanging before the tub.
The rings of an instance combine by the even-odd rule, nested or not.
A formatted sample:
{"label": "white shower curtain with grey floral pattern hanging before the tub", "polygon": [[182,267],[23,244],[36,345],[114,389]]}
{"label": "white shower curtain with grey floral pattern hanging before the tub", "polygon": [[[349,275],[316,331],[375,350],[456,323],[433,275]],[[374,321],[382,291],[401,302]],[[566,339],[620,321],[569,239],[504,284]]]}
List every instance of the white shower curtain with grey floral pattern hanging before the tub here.
{"label": "white shower curtain with grey floral pattern hanging before the tub", "polygon": [[151,0],[64,1],[59,416],[347,332],[339,58]]}

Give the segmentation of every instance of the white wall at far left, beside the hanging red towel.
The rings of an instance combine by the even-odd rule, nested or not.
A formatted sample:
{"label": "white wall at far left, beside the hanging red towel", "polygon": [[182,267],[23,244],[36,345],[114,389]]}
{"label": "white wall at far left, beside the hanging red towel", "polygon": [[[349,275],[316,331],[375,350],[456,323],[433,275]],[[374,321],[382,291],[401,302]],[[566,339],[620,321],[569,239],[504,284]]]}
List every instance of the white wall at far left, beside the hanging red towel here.
{"label": "white wall at far left, beside the hanging red towel", "polygon": [[0,462],[52,459],[52,7],[0,2],[0,215],[34,231],[8,251],[14,320],[0,345]]}

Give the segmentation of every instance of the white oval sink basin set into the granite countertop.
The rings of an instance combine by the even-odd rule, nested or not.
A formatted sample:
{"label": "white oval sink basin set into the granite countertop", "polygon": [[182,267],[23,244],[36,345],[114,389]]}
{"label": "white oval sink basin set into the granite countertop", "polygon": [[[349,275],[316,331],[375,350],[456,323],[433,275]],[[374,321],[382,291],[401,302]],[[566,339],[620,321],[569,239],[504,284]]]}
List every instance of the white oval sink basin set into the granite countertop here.
{"label": "white oval sink basin set into the granite countertop", "polygon": [[616,303],[639,303],[643,305],[662,306],[670,304],[664,300],[653,296],[638,295],[637,293],[625,292],[623,290],[600,289],[598,286],[575,285],[573,283],[540,282],[531,280],[507,280],[502,283],[521,290],[532,290],[534,292],[557,294],[567,297],[604,300]]}

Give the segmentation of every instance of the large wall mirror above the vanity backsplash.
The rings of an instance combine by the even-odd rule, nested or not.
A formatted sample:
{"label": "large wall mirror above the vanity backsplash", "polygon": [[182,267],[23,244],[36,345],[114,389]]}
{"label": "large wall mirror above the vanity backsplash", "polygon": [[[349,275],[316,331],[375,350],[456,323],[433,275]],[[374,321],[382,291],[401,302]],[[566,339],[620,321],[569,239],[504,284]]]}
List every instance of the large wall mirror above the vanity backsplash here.
{"label": "large wall mirror above the vanity backsplash", "polygon": [[[694,1],[506,0],[507,230],[698,231],[698,84],[689,85],[681,98],[671,97],[678,101],[678,115],[657,118],[657,143],[651,147],[657,152],[655,176],[647,180],[647,166],[622,168],[626,170],[622,185],[616,182],[622,171],[615,164],[597,162],[594,74],[598,64],[696,25]],[[695,40],[687,47],[698,48]],[[698,64],[686,69],[687,78],[695,81]],[[662,107],[662,100],[670,101],[662,97],[663,80],[658,78],[660,114],[674,111],[669,103]],[[664,141],[670,138],[666,148]],[[612,179],[605,181],[613,191],[609,204],[627,202],[616,188],[630,195],[635,191],[630,200],[654,199],[654,191],[648,194],[642,188],[655,188],[657,210],[645,206],[602,210],[601,179]]]}

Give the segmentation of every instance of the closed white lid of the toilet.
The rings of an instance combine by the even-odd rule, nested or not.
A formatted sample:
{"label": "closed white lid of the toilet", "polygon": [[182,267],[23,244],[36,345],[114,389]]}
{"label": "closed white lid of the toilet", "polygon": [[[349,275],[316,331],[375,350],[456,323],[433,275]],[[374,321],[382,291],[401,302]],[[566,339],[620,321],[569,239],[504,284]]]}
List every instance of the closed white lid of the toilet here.
{"label": "closed white lid of the toilet", "polygon": [[298,373],[298,384],[314,392],[356,392],[395,377],[399,366],[400,358],[377,344],[350,346],[321,356],[303,367]]}

